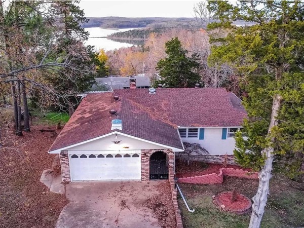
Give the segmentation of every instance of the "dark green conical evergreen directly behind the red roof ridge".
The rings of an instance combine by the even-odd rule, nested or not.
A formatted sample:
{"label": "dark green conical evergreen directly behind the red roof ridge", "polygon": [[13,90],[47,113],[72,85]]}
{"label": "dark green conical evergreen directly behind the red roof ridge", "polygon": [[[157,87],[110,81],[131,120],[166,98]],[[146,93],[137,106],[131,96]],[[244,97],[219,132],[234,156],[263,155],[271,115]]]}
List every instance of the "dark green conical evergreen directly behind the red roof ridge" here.
{"label": "dark green conical evergreen directly behind the red roof ridge", "polygon": [[201,81],[198,74],[200,64],[198,56],[193,54],[187,57],[187,51],[182,48],[177,37],[168,41],[165,45],[168,57],[161,59],[157,64],[160,71],[161,80],[157,80],[155,84],[164,84],[166,87],[194,87],[196,83]]}

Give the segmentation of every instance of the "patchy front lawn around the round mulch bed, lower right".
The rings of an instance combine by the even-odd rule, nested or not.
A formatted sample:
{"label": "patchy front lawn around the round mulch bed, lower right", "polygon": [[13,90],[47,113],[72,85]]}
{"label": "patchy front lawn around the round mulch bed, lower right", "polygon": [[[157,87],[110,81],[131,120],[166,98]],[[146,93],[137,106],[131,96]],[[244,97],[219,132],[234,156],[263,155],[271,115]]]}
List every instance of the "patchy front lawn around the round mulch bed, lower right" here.
{"label": "patchy front lawn around the round mulch bed, lower right", "polygon": [[[248,227],[250,214],[237,215],[222,212],[212,202],[212,196],[223,191],[237,191],[250,199],[255,195],[258,180],[225,177],[222,184],[198,185],[179,184],[189,207],[188,212],[182,199],[178,204],[185,228],[245,228]],[[303,227],[304,226],[304,191],[303,183],[296,183],[285,178],[274,177],[270,184],[270,195],[263,216],[261,227]]]}

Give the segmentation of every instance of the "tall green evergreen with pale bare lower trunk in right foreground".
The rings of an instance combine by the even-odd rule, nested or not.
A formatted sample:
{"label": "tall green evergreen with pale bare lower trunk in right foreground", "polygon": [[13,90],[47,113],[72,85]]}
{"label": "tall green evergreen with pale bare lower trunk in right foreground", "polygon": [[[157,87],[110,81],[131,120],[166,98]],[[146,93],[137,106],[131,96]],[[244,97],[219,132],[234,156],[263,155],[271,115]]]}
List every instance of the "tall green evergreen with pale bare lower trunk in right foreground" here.
{"label": "tall green evergreen with pale bare lower trunk in right foreground", "polygon": [[[259,169],[250,228],[260,226],[269,194],[273,161],[303,154],[304,4],[300,1],[209,2],[219,22],[208,25],[227,36],[213,36],[211,63],[229,62],[242,74],[248,94],[244,139],[237,133],[235,156],[244,166]],[[254,22],[236,27],[236,19]],[[301,156],[302,157],[302,156]]]}

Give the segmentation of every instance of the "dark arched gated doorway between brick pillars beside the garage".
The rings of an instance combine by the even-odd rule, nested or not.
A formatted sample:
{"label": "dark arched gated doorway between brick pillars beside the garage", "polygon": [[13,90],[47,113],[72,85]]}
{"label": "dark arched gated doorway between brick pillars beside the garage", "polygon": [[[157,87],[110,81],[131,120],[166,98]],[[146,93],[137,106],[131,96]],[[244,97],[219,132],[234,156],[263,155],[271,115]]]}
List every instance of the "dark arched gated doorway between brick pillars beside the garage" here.
{"label": "dark arched gated doorway between brick pillars beside the garage", "polygon": [[163,151],[156,151],[150,157],[150,180],[168,179],[168,156]]}

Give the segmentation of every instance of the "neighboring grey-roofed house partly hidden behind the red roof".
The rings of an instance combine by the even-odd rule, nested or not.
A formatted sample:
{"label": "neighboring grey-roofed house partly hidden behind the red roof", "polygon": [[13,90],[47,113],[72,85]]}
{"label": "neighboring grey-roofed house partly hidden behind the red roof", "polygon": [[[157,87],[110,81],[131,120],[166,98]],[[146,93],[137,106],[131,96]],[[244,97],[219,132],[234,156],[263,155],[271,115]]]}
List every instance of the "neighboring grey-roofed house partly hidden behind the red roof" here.
{"label": "neighboring grey-roofed house partly hidden behind the red roof", "polygon": [[149,77],[142,76],[141,74],[132,77],[107,77],[95,78],[97,85],[93,85],[91,90],[98,90],[100,86],[106,90],[119,90],[119,89],[147,89],[150,87]]}

